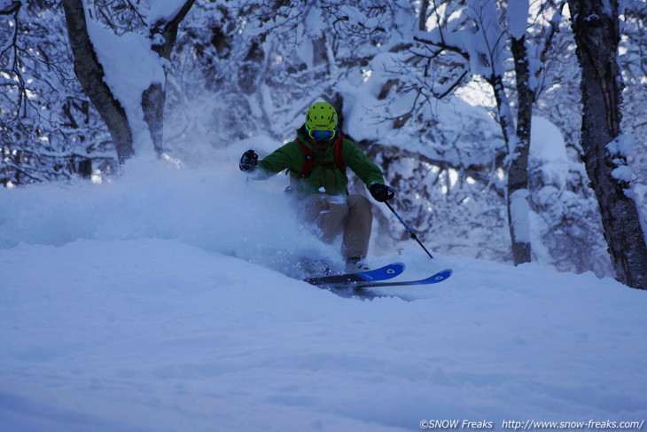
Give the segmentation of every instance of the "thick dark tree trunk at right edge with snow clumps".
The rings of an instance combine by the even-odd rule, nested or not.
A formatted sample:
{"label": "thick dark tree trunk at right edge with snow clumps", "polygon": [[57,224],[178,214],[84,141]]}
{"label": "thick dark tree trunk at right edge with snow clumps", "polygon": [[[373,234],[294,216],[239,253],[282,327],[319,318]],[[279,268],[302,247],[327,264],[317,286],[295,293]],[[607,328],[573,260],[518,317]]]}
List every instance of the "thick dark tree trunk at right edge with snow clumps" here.
{"label": "thick dark tree trunk at right edge with snow clumps", "polygon": [[618,1],[569,0],[568,4],[581,66],[581,145],[602,214],[604,239],[616,278],[629,287],[647,289],[647,245],[638,208],[628,193],[629,184],[612,173],[626,164],[626,158],[607,147],[620,136]]}

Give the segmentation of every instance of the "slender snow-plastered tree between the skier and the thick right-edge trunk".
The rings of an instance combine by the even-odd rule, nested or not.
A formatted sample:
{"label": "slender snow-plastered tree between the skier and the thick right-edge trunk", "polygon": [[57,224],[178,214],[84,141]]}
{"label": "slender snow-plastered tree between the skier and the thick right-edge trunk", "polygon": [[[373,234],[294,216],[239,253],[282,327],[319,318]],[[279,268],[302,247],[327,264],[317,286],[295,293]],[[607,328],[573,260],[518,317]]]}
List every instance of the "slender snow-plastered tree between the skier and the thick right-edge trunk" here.
{"label": "slender snow-plastered tree between the skier and the thick right-edge trunk", "polygon": [[[542,59],[550,48],[552,35],[561,18],[564,1],[553,4],[554,17],[548,28],[542,27],[541,36],[536,39],[533,51],[528,50],[526,38],[526,15],[517,17],[520,22],[503,25],[506,18],[504,10],[497,10],[494,0],[474,0],[469,2],[433,2],[433,15],[436,27],[424,36],[416,38],[428,50],[419,57],[429,62],[428,69],[447,69],[447,76],[438,76],[427,84],[436,98],[443,98],[462,85],[466,76],[480,75],[490,85],[496,101],[496,120],[499,122],[503,140],[508,150],[507,156],[507,209],[508,226],[511,236],[512,259],[515,265],[531,260],[530,221],[528,203],[528,153],[530,147],[531,120],[535,100],[544,88]],[[511,8],[511,6],[508,6]],[[517,5],[518,7],[518,5]],[[457,11],[459,18],[455,18]],[[550,11],[543,11],[547,13]],[[449,19],[448,16],[453,18]],[[514,24],[515,30],[512,31]],[[458,34],[472,35],[465,41]],[[506,75],[512,72],[505,63],[509,57],[514,63],[516,79],[517,113],[515,105],[506,93]],[[439,61],[442,57],[452,59],[447,66]],[[531,65],[540,65],[531,67]],[[462,72],[462,73],[461,73]],[[437,90],[437,88],[446,90]]]}

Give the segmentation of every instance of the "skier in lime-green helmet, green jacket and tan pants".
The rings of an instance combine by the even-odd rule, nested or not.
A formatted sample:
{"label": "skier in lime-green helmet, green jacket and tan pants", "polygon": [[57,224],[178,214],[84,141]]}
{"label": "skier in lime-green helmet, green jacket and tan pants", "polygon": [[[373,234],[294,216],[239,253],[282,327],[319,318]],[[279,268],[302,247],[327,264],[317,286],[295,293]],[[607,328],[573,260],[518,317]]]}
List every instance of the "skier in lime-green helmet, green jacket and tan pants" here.
{"label": "skier in lime-green helmet, green jacket and tan pants", "polygon": [[378,166],[339,132],[337,112],[330,104],[310,106],[294,141],[261,161],[253,150],[247,150],[238,166],[255,179],[288,169],[289,189],[300,217],[314,224],[318,237],[326,243],[331,243],[342,228],[341,255],[346,259],[346,271],[369,269],[364,259],[373,219],[370,201],[360,194],[348,194],[346,169],[352,169],[379,202],[392,199],[394,190],[385,185]]}

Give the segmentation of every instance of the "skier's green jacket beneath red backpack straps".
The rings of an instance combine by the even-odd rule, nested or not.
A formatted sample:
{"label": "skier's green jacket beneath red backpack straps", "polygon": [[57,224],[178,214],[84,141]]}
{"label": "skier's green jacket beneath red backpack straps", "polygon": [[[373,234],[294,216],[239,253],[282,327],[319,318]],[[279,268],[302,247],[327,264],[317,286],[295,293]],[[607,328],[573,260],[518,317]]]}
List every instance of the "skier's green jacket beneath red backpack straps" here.
{"label": "skier's green jacket beneath red backpack straps", "polygon": [[[259,161],[256,178],[268,178],[284,169],[289,169],[292,189],[301,194],[326,193],[328,195],[347,195],[348,177],[346,169],[340,171],[335,166],[333,145],[325,151],[316,150],[308,136],[305,127],[297,130],[301,143],[315,152],[314,161],[327,162],[326,166],[315,165],[310,176],[299,178],[305,155],[296,140],[283,145],[267,157]],[[382,171],[369,160],[355,143],[344,138],[342,147],[343,161],[347,168],[362,179],[366,187],[376,183],[384,185]]]}

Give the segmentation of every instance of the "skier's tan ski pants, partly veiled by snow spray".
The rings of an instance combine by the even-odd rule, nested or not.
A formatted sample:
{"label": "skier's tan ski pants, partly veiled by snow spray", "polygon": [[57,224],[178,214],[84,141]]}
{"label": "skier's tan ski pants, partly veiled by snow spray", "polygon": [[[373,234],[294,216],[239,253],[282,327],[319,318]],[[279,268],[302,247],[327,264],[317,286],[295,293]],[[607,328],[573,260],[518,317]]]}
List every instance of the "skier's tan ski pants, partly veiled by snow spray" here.
{"label": "skier's tan ski pants, partly veiled by snow spray", "polygon": [[366,197],[317,193],[301,199],[299,206],[303,219],[316,225],[316,233],[324,242],[331,243],[340,231],[343,233],[341,255],[344,258],[366,257],[373,223],[370,201]]}

